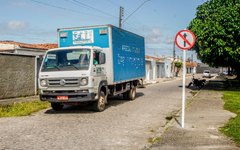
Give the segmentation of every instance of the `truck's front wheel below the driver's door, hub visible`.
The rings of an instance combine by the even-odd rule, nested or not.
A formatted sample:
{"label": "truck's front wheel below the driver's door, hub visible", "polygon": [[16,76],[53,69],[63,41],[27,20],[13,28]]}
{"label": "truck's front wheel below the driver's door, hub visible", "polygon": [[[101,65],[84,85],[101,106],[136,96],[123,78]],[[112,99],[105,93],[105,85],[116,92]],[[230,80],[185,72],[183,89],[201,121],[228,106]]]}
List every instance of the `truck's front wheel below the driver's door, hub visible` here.
{"label": "truck's front wheel below the driver's door, hub visible", "polygon": [[101,112],[106,108],[106,95],[103,91],[100,92],[98,100],[93,102],[93,108],[95,111]]}

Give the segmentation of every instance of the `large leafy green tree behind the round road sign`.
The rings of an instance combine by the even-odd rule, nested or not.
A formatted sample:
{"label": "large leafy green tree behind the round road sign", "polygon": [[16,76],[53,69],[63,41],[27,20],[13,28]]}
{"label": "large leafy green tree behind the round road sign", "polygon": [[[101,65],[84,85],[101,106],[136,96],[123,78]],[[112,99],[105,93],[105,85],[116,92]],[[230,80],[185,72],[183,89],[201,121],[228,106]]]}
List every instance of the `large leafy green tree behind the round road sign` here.
{"label": "large leafy green tree behind the round road sign", "polygon": [[194,32],[200,60],[232,67],[240,77],[240,0],[209,0],[198,6],[188,29]]}

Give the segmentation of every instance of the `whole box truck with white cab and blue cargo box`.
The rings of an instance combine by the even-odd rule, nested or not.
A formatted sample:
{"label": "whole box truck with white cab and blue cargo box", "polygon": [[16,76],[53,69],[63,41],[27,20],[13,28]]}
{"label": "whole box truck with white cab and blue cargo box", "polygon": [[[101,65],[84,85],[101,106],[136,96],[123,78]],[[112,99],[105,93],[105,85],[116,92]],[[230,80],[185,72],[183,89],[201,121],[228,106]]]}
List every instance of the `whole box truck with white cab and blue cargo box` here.
{"label": "whole box truck with white cab and blue cargo box", "polygon": [[48,50],[39,72],[40,99],[54,110],[108,96],[134,100],[145,77],[144,38],[112,25],[58,29],[59,48]]}

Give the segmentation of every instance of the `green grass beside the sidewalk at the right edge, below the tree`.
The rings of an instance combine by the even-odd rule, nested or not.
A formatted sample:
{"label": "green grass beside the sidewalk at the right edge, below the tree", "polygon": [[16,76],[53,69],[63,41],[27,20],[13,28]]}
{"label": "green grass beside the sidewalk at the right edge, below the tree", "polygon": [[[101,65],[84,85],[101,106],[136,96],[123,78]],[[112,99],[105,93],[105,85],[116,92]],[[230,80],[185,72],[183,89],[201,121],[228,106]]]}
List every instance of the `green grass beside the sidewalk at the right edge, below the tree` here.
{"label": "green grass beside the sidewalk at the right edge, below the tree", "polygon": [[229,120],[220,131],[240,144],[240,91],[225,91],[223,95],[224,108],[237,116]]}

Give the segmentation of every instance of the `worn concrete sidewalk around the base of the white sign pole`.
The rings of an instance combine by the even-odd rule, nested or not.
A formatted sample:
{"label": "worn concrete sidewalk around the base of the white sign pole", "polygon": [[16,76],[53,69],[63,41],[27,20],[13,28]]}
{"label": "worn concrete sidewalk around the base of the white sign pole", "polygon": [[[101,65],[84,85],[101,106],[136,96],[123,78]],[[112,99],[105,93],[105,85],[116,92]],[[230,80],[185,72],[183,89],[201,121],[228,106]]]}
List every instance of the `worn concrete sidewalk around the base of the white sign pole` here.
{"label": "worn concrete sidewalk around the base of the white sign pole", "polygon": [[218,131],[235,114],[223,109],[222,93],[211,90],[213,87],[206,86],[187,106],[184,129],[180,125],[181,117],[176,117],[161,140],[150,149],[239,150],[240,147]]}

